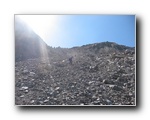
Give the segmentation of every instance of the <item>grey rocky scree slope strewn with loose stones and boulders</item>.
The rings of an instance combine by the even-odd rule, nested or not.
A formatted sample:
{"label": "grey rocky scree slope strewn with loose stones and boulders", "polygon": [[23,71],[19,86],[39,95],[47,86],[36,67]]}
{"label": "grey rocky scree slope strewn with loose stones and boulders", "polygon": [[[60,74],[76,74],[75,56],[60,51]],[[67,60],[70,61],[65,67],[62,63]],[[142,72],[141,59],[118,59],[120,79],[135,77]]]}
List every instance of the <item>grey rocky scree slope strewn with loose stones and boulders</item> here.
{"label": "grey rocky scree slope strewn with loose stones and boulders", "polygon": [[15,104],[135,105],[134,49],[86,49],[70,50],[73,64],[67,54],[16,62]]}

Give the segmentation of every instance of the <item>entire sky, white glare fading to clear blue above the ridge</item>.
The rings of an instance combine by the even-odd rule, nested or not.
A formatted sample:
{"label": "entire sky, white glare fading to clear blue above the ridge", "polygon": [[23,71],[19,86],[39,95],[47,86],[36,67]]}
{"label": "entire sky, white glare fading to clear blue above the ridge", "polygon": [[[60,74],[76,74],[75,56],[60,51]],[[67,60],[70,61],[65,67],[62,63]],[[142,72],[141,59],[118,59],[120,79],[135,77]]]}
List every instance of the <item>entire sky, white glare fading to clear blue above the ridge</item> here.
{"label": "entire sky, white glare fading to clear blue above the ridge", "polygon": [[99,42],[135,47],[135,15],[19,15],[49,46]]}

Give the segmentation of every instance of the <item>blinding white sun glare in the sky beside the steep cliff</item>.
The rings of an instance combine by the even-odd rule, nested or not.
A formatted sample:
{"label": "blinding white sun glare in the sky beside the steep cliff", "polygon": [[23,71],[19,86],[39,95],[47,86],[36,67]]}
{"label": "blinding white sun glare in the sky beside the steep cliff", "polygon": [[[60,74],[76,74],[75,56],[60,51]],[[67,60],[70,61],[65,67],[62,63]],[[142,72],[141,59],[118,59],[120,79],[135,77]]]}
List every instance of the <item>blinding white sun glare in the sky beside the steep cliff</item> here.
{"label": "blinding white sun glare in the sky beside the steep cliff", "polygon": [[19,15],[19,17],[44,41],[47,36],[53,35],[58,24],[57,15]]}

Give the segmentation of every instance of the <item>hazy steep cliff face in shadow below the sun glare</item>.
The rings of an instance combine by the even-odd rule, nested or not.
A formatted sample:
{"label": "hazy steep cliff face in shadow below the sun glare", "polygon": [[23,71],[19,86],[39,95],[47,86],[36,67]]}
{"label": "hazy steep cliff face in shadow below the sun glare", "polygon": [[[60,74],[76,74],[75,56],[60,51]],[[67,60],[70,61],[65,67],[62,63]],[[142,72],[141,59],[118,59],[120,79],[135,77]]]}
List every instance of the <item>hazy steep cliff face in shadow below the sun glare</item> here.
{"label": "hazy steep cliff face in shadow below the sun glare", "polygon": [[47,48],[46,43],[23,21],[15,17],[15,61],[39,58]]}

